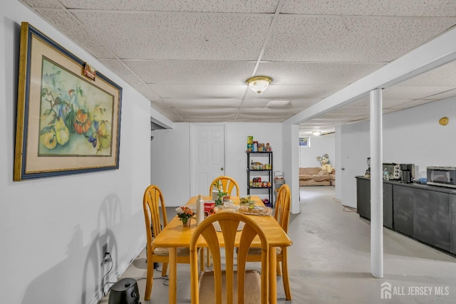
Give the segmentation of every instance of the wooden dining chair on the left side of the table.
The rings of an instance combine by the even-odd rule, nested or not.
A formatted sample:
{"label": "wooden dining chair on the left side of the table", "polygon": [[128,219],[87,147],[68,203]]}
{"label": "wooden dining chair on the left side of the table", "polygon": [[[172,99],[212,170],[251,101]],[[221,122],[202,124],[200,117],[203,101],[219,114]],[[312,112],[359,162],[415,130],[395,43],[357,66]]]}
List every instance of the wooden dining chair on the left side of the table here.
{"label": "wooden dining chair on the left side of the table", "polygon": [[[154,237],[160,234],[162,229],[164,229],[167,225],[165,199],[163,199],[163,194],[159,187],[150,185],[147,189],[145,189],[144,196],[142,198],[142,207],[144,209],[145,231],[147,236],[147,276],[144,300],[149,300],[150,293],[152,293],[154,263],[163,263],[162,276],[166,276],[169,261],[167,248],[152,247]],[[189,248],[177,248],[177,263],[190,263]]]}

